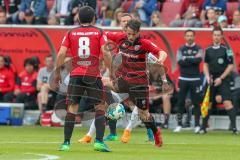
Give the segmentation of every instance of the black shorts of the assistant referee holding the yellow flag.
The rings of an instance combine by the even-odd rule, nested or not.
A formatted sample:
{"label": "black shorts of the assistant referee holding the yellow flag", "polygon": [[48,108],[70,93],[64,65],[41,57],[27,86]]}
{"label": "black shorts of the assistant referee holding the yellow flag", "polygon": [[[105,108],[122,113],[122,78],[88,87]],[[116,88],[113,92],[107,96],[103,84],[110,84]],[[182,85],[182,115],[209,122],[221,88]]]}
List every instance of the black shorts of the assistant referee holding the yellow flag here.
{"label": "black shorts of the assistant referee holding the yellow flag", "polygon": [[[213,79],[214,81],[215,79]],[[216,95],[222,96],[222,101],[231,100],[231,77],[226,77],[222,80],[221,85],[214,87],[213,85],[210,87],[210,101],[214,102]]]}

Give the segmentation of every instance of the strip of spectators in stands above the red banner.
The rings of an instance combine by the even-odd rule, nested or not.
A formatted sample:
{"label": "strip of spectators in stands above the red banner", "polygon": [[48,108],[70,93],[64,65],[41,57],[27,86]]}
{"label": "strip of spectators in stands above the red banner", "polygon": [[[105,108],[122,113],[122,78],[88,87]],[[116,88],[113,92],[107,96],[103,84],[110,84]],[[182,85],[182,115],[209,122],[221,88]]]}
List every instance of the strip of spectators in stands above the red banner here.
{"label": "strip of spectators in stands above the red banner", "polygon": [[99,26],[118,27],[128,12],[146,27],[240,27],[239,0],[0,0],[0,24],[76,25],[83,5]]}

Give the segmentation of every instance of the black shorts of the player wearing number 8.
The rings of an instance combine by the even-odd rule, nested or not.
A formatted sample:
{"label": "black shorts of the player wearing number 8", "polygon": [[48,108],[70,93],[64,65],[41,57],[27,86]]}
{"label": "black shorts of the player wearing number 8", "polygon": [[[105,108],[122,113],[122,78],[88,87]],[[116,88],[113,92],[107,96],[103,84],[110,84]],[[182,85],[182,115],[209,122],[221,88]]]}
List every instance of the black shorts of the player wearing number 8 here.
{"label": "black shorts of the player wearing number 8", "polygon": [[79,104],[82,97],[91,99],[92,106],[103,101],[102,80],[90,76],[72,76],[70,77],[67,104]]}

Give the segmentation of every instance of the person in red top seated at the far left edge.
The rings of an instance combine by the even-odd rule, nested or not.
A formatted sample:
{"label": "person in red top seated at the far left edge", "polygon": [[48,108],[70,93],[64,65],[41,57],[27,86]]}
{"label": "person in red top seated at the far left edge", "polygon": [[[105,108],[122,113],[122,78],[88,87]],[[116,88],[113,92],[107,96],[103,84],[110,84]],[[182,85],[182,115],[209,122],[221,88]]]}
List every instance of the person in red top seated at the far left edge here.
{"label": "person in red top seated at the far left edge", "polygon": [[3,101],[5,94],[14,90],[14,73],[6,65],[3,55],[0,55],[0,101]]}

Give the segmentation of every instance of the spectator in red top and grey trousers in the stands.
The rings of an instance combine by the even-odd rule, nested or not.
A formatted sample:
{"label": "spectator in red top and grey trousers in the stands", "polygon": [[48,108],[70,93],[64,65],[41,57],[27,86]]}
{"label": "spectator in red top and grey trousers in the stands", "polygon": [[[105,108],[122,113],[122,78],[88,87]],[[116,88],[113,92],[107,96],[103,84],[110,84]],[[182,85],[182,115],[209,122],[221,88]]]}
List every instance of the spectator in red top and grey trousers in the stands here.
{"label": "spectator in red top and grey trousers in the stands", "polygon": [[184,0],[180,13],[170,23],[171,27],[201,27],[200,13],[203,0]]}

